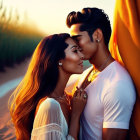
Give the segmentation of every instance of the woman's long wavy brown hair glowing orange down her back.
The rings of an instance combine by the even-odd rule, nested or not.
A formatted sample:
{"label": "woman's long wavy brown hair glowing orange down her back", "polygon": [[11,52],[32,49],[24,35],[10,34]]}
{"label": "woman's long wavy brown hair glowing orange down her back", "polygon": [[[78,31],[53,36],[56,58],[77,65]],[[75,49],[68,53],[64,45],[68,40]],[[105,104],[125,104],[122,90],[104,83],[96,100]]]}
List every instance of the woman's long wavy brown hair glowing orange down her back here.
{"label": "woman's long wavy brown hair glowing orange down her back", "polygon": [[44,38],[35,49],[27,72],[9,99],[17,140],[29,140],[38,102],[48,96],[58,81],[58,62],[65,58],[69,34]]}

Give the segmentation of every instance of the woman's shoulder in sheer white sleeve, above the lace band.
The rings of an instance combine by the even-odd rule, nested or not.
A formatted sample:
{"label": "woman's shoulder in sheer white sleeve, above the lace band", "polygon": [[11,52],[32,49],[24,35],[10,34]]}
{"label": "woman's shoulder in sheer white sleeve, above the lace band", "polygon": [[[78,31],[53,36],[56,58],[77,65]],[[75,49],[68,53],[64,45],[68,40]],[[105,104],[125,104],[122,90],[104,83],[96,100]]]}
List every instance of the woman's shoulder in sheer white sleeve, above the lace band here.
{"label": "woman's shoulder in sheer white sleeve, above the lace band", "polygon": [[[62,119],[59,103],[55,99],[47,98],[39,106],[33,127],[34,129],[43,127],[48,130],[49,126],[54,124],[61,126]],[[41,129],[41,131],[44,130]]]}

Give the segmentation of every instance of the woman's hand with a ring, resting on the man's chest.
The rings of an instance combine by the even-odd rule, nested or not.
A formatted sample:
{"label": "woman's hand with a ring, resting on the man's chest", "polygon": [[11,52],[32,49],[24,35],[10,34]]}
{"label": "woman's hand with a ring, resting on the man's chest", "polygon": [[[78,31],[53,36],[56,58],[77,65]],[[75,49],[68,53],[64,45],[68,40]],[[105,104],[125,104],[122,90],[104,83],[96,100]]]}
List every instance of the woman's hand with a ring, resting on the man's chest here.
{"label": "woman's hand with a ring, resting on the man's chest", "polygon": [[82,89],[78,88],[71,99],[72,115],[80,117],[87,102],[87,93]]}

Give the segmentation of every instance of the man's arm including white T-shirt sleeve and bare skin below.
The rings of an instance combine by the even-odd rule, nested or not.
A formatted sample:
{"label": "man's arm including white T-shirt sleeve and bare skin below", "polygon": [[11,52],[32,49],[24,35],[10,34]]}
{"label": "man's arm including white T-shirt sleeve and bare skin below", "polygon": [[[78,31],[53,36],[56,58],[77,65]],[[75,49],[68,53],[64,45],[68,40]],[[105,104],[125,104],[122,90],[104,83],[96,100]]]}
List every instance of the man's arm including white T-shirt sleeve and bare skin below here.
{"label": "man's arm including white T-shirt sleeve and bare skin below", "polygon": [[135,103],[135,93],[123,81],[116,83],[103,97],[103,140],[125,140]]}

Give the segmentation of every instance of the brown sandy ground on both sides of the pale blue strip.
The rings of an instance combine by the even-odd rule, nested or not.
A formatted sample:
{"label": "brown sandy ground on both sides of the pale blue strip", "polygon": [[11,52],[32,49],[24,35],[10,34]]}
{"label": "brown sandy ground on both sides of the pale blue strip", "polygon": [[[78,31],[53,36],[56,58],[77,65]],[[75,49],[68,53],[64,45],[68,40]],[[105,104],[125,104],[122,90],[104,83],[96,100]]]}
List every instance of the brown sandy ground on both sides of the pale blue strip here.
{"label": "brown sandy ground on both sides of the pale blue strip", "polygon": [[[15,65],[13,68],[6,68],[5,72],[0,72],[0,85],[24,76],[30,59],[26,59],[19,65]],[[13,89],[14,90],[14,89]],[[0,140],[15,140],[14,129],[10,123],[10,114],[8,110],[8,99],[13,92],[10,90],[3,97],[0,98]]]}

